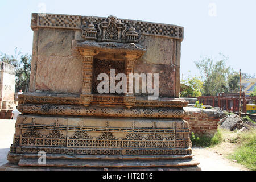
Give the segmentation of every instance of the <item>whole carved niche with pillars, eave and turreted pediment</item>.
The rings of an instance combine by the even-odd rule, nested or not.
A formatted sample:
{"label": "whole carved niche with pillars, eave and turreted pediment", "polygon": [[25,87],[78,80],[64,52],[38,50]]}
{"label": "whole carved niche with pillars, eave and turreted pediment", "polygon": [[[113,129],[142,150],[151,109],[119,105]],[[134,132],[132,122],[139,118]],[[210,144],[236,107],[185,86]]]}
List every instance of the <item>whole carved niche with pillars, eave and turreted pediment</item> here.
{"label": "whole carved niche with pillars, eave and turreted pediment", "polygon": [[[106,73],[109,76],[111,85],[113,81],[110,76],[110,70],[115,69],[115,76],[118,73],[124,73],[126,76],[133,73],[134,62],[142,56],[146,49],[136,44],[141,38],[137,30],[133,27],[134,22],[130,21],[129,25],[122,22],[115,16],[101,19],[100,21],[93,16],[84,22],[86,26],[82,26],[82,37],[84,42],[77,44],[77,49],[83,60],[83,86],[80,95],[81,104],[85,107],[93,102],[93,96],[98,94],[97,86],[101,82],[97,80],[100,73]],[[115,85],[119,81],[114,81]],[[131,82],[127,80],[127,85]],[[127,108],[131,108],[135,104],[135,97],[127,86],[127,93],[112,92],[112,86],[109,85],[108,99],[122,97],[122,103]],[[113,96],[119,95],[119,96]],[[104,97],[105,98],[105,97]],[[109,101],[103,103],[111,105]]]}

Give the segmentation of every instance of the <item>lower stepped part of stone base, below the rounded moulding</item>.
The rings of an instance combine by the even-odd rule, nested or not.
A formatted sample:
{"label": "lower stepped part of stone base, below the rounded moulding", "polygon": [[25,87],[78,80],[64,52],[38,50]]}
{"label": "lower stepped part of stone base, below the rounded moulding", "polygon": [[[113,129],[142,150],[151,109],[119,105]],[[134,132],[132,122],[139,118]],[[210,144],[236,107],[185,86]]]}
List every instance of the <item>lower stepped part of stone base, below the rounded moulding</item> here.
{"label": "lower stepped part of stone base, below the rounded moulding", "polygon": [[[8,160],[19,166],[38,166],[40,151],[46,152],[47,161],[49,159],[46,166],[65,167],[71,163],[73,167],[197,165],[192,162],[189,126],[182,119],[23,114],[18,116],[15,127]],[[86,159],[86,163],[80,158]]]}

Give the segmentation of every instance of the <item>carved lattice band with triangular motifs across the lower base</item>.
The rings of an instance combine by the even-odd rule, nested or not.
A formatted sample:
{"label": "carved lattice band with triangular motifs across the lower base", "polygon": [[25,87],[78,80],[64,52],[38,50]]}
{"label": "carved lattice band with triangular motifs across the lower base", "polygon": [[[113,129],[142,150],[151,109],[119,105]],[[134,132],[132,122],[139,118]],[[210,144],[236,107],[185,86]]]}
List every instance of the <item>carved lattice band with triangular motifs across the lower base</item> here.
{"label": "carved lattice band with triangular motifs across the lower base", "polygon": [[[26,117],[25,117],[26,118]],[[17,125],[16,125],[17,126]],[[150,128],[137,128],[135,122],[132,122],[131,128],[115,129],[106,122],[106,127],[88,127],[84,126],[81,120],[80,126],[64,127],[59,125],[59,119],[56,119],[54,125],[38,125],[32,118],[31,124],[19,125],[20,128],[26,128],[26,132],[21,136],[14,137],[14,143],[19,146],[65,146],[65,147],[111,147],[111,148],[188,148],[189,129],[177,129],[177,123],[174,122],[168,129],[159,129],[156,122]],[[181,125],[184,127],[184,125]],[[49,134],[43,136],[40,130],[52,129]],[[77,131],[79,129],[79,131]],[[65,137],[61,131],[75,131],[72,137]],[[88,132],[101,132],[96,139]],[[114,133],[124,133],[125,137],[114,137]],[[187,137],[184,138],[184,134]]]}

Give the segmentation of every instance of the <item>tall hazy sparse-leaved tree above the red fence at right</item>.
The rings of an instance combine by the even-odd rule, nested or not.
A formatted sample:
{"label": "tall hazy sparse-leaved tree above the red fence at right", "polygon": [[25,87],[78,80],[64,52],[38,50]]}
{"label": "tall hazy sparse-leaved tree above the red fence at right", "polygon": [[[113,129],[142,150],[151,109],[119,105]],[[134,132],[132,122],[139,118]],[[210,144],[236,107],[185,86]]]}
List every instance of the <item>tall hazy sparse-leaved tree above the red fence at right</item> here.
{"label": "tall hazy sparse-leaved tree above the red fence at right", "polygon": [[204,96],[217,96],[218,93],[228,92],[227,78],[230,67],[226,67],[228,57],[221,55],[221,59],[214,63],[213,59],[204,57],[200,61],[195,61],[196,67],[201,72],[203,78]]}

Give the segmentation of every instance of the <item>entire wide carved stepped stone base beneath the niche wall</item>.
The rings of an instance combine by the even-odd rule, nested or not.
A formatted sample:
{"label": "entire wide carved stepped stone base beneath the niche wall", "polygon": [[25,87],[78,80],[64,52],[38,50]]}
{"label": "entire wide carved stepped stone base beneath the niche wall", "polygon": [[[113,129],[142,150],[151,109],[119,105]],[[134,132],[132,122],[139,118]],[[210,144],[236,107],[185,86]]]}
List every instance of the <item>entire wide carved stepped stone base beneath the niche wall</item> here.
{"label": "entire wide carved stepped stone base beneath the niche wall", "polygon": [[[19,96],[18,110],[23,114],[15,124],[14,144],[8,155],[10,163],[40,166],[38,152],[44,151],[48,167],[198,164],[192,160],[188,122],[182,119],[187,101],[148,101],[140,97],[133,108],[126,109],[121,102],[120,107],[97,107],[97,100],[89,107],[80,106],[80,98],[70,94],[69,100],[61,94],[43,96],[44,100],[34,93]],[[75,99],[77,102],[73,102]],[[56,101],[68,103],[56,105]]]}

